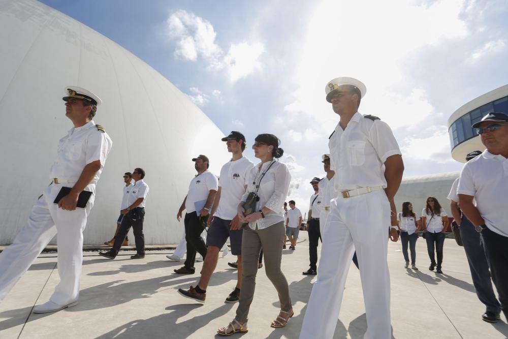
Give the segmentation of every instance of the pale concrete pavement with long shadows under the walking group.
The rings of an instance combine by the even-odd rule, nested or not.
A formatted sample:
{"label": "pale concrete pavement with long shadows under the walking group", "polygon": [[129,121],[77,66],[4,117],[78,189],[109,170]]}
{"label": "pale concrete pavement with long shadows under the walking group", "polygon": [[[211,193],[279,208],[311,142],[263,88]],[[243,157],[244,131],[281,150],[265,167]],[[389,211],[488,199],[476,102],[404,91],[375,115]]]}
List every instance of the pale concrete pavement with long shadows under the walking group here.
{"label": "pale concrete pavement with long shadows under the walking group", "polygon": [[[301,232],[304,233],[304,232]],[[295,316],[285,328],[271,328],[278,314],[277,294],[261,269],[244,338],[298,338],[306,303],[315,277],[308,268],[308,242],[296,251],[284,250],[282,270],[290,283]],[[320,245],[321,249],[321,245]],[[444,274],[427,267],[425,241],[417,242],[419,271],[405,269],[400,242],[389,243],[392,286],[393,337],[401,338],[506,338],[506,319],[497,324],[481,320],[485,311],[474,287],[462,248],[453,239],[444,245]],[[236,270],[219,259],[204,304],[183,298],[178,288],[196,285],[197,274],[178,275],[183,265],[166,259],[172,250],[149,251],[145,259],[131,260],[134,252],[121,252],[107,260],[85,252],[80,299],[77,306],[50,314],[33,314],[34,305],[50,297],[58,282],[56,254],[41,254],[0,303],[0,338],[209,338],[234,317],[237,304],[224,303],[235,287]],[[316,324],[320,326],[320,324]],[[354,265],[348,274],[342,309],[334,338],[362,338],[366,330],[360,275]],[[217,336],[218,337],[218,336]]]}

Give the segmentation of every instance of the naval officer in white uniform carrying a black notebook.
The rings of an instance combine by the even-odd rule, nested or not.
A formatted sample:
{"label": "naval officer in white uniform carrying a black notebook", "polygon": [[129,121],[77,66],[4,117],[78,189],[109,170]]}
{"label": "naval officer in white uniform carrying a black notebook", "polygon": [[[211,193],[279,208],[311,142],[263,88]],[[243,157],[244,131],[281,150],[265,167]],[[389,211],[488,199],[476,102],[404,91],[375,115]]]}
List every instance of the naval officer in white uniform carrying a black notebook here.
{"label": "naval officer in white uniform carrying a black notebook", "polygon": [[[66,102],[66,116],[74,127],[59,140],[49,175],[51,184],[37,200],[13,243],[0,254],[0,300],[3,300],[57,235],[60,282],[49,301],[34,308],[35,313],[58,311],[78,302],[83,230],[112,145],[104,128],[92,120],[101,99],[81,87],[68,86],[65,93],[62,99]],[[70,193],[54,204],[62,187],[70,188]],[[76,208],[82,191],[91,192],[91,196],[84,208]]]}

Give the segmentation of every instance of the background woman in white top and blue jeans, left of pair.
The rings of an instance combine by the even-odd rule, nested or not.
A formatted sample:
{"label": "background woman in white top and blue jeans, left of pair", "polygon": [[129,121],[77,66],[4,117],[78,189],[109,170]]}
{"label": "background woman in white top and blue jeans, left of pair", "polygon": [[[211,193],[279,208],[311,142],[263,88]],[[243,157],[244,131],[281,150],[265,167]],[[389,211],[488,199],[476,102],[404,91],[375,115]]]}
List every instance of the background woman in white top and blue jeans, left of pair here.
{"label": "background woman in white top and blue jeans, left of pair", "polygon": [[411,268],[418,270],[416,267],[416,241],[418,240],[418,231],[421,224],[418,215],[412,210],[412,204],[409,201],[402,203],[402,212],[397,216],[398,226],[400,230],[400,240],[402,242],[402,254],[406,261],[405,268],[409,266],[409,256],[407,255],[407,243],[411,251]]}

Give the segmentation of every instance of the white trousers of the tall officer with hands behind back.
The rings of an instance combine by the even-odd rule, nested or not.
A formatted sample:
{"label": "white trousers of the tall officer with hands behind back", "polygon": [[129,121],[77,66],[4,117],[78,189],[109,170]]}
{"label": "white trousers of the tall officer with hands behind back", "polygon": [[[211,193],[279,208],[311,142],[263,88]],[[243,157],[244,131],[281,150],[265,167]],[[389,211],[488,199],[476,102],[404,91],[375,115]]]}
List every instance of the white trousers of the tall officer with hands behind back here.
{"label": "white trousers of the tall officer with hands behind back", "polygon": [[388,230],[390,204],[384,191],[330,203],[324,229],[318,279],[313,284],[301,339],[332,338],[340,312],[347,271],[356,248],[367,317],[366,339],[390,339]]}

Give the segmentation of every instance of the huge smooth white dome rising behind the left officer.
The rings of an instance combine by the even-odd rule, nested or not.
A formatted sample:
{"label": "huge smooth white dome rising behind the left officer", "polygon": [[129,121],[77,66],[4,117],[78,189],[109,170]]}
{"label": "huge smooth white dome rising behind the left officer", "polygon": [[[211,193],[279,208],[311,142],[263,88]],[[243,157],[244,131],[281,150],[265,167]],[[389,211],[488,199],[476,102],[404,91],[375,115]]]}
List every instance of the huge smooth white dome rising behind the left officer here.
{"label": "huge smooth white dome rising behind the left officer", "polygon": [[[218,174],[229,159],[224,134],[178,88],[118,44],[46,5],[0,0],[0,244],[12,242],[50,183],[58,139],[72,128],[63,88],[76,85],[103,104],[94,121],[113,140],[84,231],[85,244],[114,234],[124,172],[146,171],[147,244],[177,243],[176,213],[204,154]],[[55,242],[53,239],[52,243]]]}

